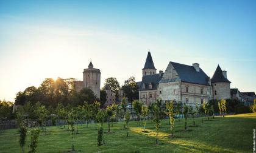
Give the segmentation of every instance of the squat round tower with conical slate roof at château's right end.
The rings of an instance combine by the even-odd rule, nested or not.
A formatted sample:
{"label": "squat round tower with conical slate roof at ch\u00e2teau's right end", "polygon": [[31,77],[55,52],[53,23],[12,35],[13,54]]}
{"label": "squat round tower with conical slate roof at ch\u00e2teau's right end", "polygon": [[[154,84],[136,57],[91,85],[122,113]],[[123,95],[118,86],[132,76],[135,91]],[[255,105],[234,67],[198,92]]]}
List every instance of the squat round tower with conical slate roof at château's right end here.
{"label": "squat round tower with conical slate roof at ch\u00e2teau's right end", "polygon": [[213,98],[216,100],[219,99],[228,99],[230,98],[230,81],[227,79],[227,71],[221,70],[221,67],[217,67],[213,77],[211,79],[213,86]]}

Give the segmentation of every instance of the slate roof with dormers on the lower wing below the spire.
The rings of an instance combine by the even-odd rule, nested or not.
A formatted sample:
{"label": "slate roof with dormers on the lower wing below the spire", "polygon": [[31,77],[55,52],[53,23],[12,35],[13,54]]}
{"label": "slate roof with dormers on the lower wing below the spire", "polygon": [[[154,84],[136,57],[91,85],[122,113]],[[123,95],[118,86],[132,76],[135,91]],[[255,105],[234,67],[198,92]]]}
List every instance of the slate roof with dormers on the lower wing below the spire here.
{"label": "slate roof with dormers on the lower wing below the spire", "polygon": [[163,77],[163,73],[160,75],[159,73],[154,74],[154,75],[144,75],[142,77],[142,81],[140,83],[140,90],[143,90],[143,84],[145,84],[145,89],[144,90],[149,90],[149,83],[152,84],[152,89],[155,90],[157,89],[157,84]]}

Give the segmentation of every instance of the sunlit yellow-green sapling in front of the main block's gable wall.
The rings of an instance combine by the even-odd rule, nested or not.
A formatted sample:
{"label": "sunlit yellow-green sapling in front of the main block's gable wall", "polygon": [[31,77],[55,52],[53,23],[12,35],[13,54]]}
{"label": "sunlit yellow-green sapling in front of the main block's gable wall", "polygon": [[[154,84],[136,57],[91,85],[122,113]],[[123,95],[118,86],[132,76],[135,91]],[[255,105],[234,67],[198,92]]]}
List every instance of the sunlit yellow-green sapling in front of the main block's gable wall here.
{"label": "sunlit yellow-green sapling in front of the main block's gable wall", "polygon": [[169,103],[166,103],[166,115],[169,116],[169,123],[170,123],[170,130],[171,130],[171,136],[173,137],[174,133],[174,101],[170,101]]}

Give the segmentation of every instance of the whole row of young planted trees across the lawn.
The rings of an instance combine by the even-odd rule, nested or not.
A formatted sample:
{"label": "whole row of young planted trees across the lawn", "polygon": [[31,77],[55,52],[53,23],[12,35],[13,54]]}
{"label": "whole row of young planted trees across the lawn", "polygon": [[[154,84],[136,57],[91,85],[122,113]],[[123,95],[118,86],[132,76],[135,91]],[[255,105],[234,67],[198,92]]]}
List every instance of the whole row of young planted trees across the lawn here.
{"label": "whole row of young planted trees across the lawn", "polygon": [[[123,129],[127,130],[127,137],[129,137],[129,121],[130,116],[135,112],[137,115],[138,123],[141,122],[141,117],[143,118],[143,132],[146,132],[146,120],[150,118],[152,122],[155,124],[155,132],[156,132],[156,143],[158,143],[158,132],[161,126],[162,119],[166,116],[169,117],[169,125],[170,125],[170,137],[174,137],[174,123],[176,118],[178,121],[180,120],[180,115],[185,120],[185,131],[187,131],[187,118],[190,115],[193,118],[193,126],[196,126],[194,121],[194,117],[196,115],[201,115],[202,123],[203,117],[205,115],[212,115],[214,118],[214,109],[213,106],[210,106],[209,103],[203,103],[201,106],[196,106],[196,109],[193,109],[191,106],[187,106],[185,104],[176,103],[175,101],[169,101],[166,103],[165,107],[162,107],[162,101],[160,99],[157,100],[157,103],[149,104],[146,106],[141,101],[134,100],[132,102],[133,110],[127,109],[127,103],[125,98],[118,106],[116,104],[111,104],[107,106],[105,109],[101,109],[101,104],[98,101],[95,101],[93,104],[84,103],[82,106],[77,107],[64,107],[62,104],[58,104],[56,109],[49,110],[44,105],[40,103],[35,104],[34,106],[34,114],[37,118],[37,122],[33,124],[29,124],[28,114],[26,113],[26,107],[20,107],[16,112],[16,117],[19,124],[19,132],[20,132],[20,146],[24,152],[24,146],[26,143],[26,135],[28,127],[32,127],[30,129],[31,134],[31,144],[29,144],[30,152],[35,152],[37,148],[37,141],[39,137],[39,132],[41,127],[41,131],[44,132],[44,135],[47,135],[46,132],[46,121],[51,120],[52,124],[61,125],[63,123],[63,128],[65,129],[65,124],[68,124],[67,131],[70,132],[72,138],[72,151],[75,151],[74,148],[74,135],[79,133],[79,123],[85,123],[88,127],[88,122],[93,121],[95,123],[95,129],[98,129],[98,150],[100,146],[105,144],[104,140],[104,129],[103,123],[108,123],[107,132],[113,133],[110,131],[110,127],[113,122],[118,119],[123,121],[124,125]],[[219,101],[219,110],[220,114],[223,115],[226,113],[226,100]],[[37,124],[38,123],[38,124]],[[100,123],[100,127],[97,128],[97,123]]]}

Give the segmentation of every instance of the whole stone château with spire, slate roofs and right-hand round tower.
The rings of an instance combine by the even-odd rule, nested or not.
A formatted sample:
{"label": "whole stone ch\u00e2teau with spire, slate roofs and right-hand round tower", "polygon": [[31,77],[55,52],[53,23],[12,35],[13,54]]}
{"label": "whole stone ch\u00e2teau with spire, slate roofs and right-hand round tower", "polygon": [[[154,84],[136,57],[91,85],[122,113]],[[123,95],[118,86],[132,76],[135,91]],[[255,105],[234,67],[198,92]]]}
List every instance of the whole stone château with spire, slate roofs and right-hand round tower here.
{"label": "whole stone ch\u00e2teau with spire, slate roofs and right-hand round tower", "polygon": [[174,100],[190,106],[208,102],[210,99],[230,98],[230,81],[227,72],[218,66],[212,80],[199,67],[198,63],[188,66],[169,62],[165,72],[156,73],[151,53],[148,52],[142,70],[139,99],[146,104]]}

